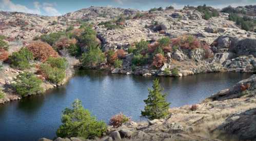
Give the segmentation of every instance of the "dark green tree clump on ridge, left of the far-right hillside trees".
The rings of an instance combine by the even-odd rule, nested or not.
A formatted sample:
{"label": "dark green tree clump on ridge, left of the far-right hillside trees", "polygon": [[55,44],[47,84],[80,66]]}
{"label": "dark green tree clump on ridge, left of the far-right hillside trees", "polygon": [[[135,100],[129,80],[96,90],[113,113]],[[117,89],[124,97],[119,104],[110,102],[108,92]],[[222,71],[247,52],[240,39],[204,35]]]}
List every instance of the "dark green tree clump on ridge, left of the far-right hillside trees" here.
{"label": "dark green tree clump on ridge, left of the far-right hillside trees", "polygon": [[218,10],[216,10],[216,9],[214,9],[212,7],[208,7],[206,5],[198,6],[196,8],[196,10],[198,10],[201,13],[203,13],[204,14],[203,18],[206,19],[206,20],[210,19],[213,16],[218,16],[219,15]]}

